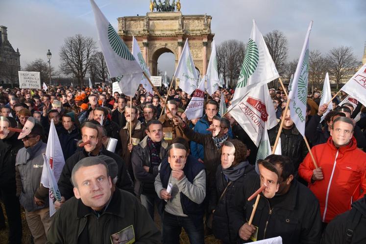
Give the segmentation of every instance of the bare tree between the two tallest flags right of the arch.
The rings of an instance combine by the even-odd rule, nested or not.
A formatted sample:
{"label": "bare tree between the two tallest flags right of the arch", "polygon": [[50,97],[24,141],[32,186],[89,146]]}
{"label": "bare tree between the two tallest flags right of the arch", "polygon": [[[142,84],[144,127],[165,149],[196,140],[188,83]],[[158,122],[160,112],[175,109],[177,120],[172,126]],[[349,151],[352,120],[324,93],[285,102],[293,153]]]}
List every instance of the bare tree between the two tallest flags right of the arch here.
{"label": "bare tree between the two tallest flags right of the arch", "polygon": [[285,71],[287,60],[287,38],[279,30],[273,30],[267,33],[264,37],[269,54],[271,55],[278,73],[282,76]]}

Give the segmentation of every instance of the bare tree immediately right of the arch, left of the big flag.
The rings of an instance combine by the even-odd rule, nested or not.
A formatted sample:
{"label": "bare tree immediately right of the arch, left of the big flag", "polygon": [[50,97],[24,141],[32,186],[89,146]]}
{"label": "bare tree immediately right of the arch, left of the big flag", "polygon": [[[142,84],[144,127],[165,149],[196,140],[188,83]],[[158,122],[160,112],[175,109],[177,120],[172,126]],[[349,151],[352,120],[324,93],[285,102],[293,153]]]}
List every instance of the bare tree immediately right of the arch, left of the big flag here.
{"label": "bare tree immediately right of the arch, left of the big flag", "polygon": [[225,78],[229,78],[230,85],[237,80],[244,60],[245,44],[238,40],[222,42],[217,48],[218,70]]}

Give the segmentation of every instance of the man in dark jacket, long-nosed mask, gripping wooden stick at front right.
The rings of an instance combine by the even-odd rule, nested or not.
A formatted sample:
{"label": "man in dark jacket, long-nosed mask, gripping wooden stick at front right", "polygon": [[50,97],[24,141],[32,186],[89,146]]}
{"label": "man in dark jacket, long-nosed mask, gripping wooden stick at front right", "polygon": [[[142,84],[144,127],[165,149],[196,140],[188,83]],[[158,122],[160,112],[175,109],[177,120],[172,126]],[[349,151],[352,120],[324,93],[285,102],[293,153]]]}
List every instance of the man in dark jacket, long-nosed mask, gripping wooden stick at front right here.
{"label": "man in dark jacket, long-nosed mask, gripping wooden stick at front right", "polygon": [[[232,228],[241,243],[281,236],[283,244],[319,243],[321,219],[315,195],[294,179],[289,157],[269,155],[258,161],[259,175],[248,175],[238,187],[229,209]],[[257,210],[248,224],[256,197],[248,201],[260,186]],[[244,224],[243,224],[244,223]]]}

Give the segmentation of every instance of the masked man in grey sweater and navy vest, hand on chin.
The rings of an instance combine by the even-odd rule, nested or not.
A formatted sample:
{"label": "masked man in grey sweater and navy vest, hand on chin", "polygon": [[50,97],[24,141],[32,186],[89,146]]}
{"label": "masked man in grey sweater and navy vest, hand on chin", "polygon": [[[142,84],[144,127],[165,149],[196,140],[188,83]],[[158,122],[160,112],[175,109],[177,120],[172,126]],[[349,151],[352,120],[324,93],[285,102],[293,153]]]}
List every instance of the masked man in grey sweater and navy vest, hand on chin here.
{"label": "masked man in grey sweater and navy vest, hand on chin", "polygon": [[[183,227],[190,243],[204,244],[203,200],[206,196],[204,166],[188,155],[186,146],[173,143],[168,148],[168,161],[163,160],[155,178],[155,191],[164,201],[163,243],[179,244]],[[187,160],[187,158],[190,160]],[[168,193],[171,184],[170,193]]]}

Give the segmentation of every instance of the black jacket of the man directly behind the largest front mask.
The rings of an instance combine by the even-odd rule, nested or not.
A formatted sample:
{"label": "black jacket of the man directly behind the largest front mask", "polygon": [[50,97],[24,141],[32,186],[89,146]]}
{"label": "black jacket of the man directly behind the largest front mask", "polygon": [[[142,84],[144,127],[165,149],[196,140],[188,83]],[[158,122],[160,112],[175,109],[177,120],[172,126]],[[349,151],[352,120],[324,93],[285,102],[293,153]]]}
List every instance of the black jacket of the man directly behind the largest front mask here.
{"label": "black jacket of the man directly behind the largest front mask", "polygon": [[[111,157],[116,161],[118,165],[118,181],[116,186],[122,190],[133,193],[133,183],[127,172],[123,159],[116,153],[110,152],[105,148],[100,151],[99,155]],[[57,185],[61,195],[64,196],[66,200],[73,197],[73,185],[71,183],[71,172],[73,171],[73,167],[77,162],[86,157],[89,157],[89,154],[83,148],[81,151],[75,152],[68,160],[66,160],[64,168],[62,168]]]}

